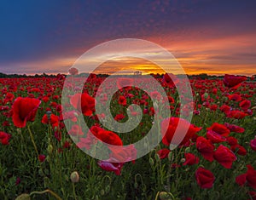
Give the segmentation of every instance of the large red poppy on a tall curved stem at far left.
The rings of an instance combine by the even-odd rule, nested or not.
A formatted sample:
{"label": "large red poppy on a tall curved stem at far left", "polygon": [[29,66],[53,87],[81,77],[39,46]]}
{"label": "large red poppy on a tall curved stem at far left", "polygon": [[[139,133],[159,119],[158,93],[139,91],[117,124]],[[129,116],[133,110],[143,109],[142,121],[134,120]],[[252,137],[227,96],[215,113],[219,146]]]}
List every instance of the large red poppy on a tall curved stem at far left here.
{"label": "large red poppy on a tall curved stem at far left", "polygon": [[12,106],[12,119],[16,127],[23,128],[26,122],[35,120],[41,101],[34,98],[18,97]]}

